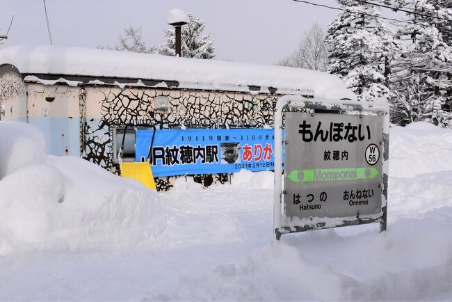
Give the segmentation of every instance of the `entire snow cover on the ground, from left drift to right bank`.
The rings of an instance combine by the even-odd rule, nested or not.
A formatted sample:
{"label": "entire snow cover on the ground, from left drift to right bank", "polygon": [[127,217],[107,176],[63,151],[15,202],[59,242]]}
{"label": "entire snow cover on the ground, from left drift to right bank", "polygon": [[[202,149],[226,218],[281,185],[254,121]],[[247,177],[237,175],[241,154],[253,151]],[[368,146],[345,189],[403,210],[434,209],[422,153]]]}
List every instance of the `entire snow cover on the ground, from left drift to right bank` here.
{"label": "entire snow cover on the ground, from left drift to right bank", "polygon": [[11,167],[0,175],[1,301],[452,298],[450,129],[391,129],[387,232],[361,225],[280,242],[271,172],[209,189],[180,177],[154,193],[75,157],[10,154],[41,150],[36,132],[0,122]]}

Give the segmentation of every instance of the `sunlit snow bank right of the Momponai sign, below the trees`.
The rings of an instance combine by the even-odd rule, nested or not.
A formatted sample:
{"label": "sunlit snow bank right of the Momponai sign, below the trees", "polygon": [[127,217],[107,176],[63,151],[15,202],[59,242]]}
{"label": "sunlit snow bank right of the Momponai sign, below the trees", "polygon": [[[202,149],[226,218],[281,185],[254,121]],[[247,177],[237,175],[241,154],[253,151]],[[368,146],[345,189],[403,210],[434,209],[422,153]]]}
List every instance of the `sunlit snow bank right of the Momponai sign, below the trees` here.
{"label": "sunlit snow bank right of the Momponai sign, below the trees", "polygon": [[426,122],[392,127],[389,158],[389,222],[452,206],[451,129]]}

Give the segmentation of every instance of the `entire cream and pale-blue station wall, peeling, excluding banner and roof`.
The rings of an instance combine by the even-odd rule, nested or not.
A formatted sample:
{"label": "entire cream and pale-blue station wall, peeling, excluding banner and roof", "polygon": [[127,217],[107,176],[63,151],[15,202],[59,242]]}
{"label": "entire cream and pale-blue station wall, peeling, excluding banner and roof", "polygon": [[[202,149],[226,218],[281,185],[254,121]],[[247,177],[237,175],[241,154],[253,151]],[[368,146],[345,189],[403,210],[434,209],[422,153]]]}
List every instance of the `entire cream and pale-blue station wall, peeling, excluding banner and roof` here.
{"label": "entire cream and pale-blue station wall, peeling, excluding banner and roof", "polygon": [[[17,81],[17,85],[22,85],[24,90],[22,80]],[[280,97],[177,88],[72,87],[34,82],[26,83],[25,91],[28,98],[22,93],[22,98],[16,96],[14,100],[17,104],[28,102],[29,122],[45,134],[49,154],[81,156],[117,174],[120,173],[119,166],[113,154],[115,127],[261,128],[273,125],[273,109]],[[156,108],[159,97],[168,97],[166,109]],[[26,111],[22,110],[21,114],[26,117]],[[160,177],[156,184],[159,189],[166,190],[173,180],[174,177]],[[208,185],[226,182],[227,175],[197,175],[195,180]]]}

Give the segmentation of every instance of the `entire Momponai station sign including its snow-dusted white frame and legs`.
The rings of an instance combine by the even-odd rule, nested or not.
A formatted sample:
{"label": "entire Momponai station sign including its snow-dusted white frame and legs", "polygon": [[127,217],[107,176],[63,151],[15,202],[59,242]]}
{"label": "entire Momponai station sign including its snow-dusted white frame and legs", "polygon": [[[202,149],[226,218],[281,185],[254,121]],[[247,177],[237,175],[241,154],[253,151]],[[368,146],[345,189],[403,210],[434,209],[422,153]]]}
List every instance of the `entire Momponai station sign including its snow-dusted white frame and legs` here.
{"label": "entire Momponai station sign including its snow-dusted white frame and legs", "polygon": [[[288,108],[309,110],[285,113],[282,141]],[[387,102],[281,97],[275,109],[276,239],[364,223],[386,230],[388,146]]]}

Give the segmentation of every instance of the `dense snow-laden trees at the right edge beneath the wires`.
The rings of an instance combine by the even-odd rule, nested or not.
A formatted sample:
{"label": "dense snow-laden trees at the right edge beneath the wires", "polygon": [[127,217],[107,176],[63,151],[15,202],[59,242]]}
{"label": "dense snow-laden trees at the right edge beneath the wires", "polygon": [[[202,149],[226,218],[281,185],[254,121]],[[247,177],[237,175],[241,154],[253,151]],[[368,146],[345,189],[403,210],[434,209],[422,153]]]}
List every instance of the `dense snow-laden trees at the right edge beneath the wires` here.
{"label": "dense snow-laden trees at the right edge beneath the wires", "polygon": [[407,13],[412,24],[397,33],[408,43],[392,67],[392,120],[399,125],[425,120],[452,127],[452,1],[395,0],[394,6],[421,15]]}

